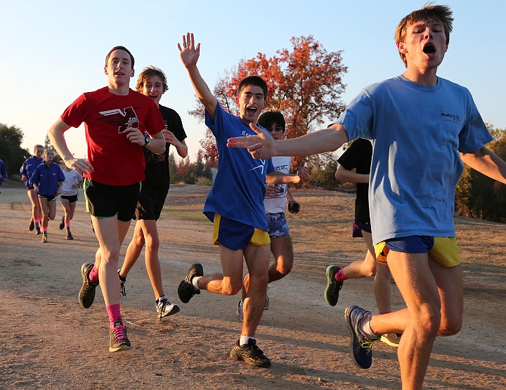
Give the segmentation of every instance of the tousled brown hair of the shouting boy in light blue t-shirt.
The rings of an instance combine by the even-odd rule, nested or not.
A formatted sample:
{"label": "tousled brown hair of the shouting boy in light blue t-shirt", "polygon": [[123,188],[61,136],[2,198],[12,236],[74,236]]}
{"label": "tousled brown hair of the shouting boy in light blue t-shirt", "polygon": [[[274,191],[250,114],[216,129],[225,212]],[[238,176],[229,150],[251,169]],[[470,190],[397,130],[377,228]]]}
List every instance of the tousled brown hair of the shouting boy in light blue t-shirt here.
{"label": "tousled brown hair of the shouting boy in light blue t-shirt", "polygon": [[[450,43],[450,32],[453,30],[453,12],[448,6],[434,6],[433,4],[434,3],[425,4],[422,9],[413,11],[409,15],[406,15],[401,22],[399,22],[395,33],[396,44],[404,42],[408,26],[413,25],[416,22],[420,22],[420,20],[441,22],[446,35],[446,45]],[[399,51],[399,56],[401,56],[404,65],[408,66],[408,63],[406,62],[406,54]]]}

